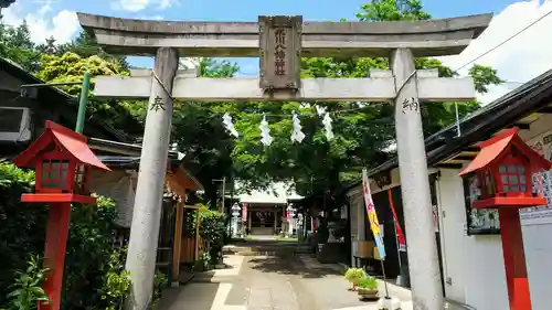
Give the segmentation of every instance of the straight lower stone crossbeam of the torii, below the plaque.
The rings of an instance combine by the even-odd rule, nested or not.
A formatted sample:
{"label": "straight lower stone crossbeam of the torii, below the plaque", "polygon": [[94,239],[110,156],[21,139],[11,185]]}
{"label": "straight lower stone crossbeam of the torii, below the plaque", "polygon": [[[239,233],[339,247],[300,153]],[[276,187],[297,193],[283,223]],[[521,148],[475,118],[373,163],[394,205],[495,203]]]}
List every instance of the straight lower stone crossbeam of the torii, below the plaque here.
{"label": "straight lower stone crossbeam of the torii, below the plaque", "polygon": [[[96,97],[146,99],[150,96],[152,76],[98,76]],[[421,101],[461,101],[475,97],[471,78],[443,78],[436,71],[417,72]],[[302,78],[298,93],[265,94],[258,78],[174,78],[172,97],[182,101],[392,101],[396,96],[391,71],[371,78]]]}

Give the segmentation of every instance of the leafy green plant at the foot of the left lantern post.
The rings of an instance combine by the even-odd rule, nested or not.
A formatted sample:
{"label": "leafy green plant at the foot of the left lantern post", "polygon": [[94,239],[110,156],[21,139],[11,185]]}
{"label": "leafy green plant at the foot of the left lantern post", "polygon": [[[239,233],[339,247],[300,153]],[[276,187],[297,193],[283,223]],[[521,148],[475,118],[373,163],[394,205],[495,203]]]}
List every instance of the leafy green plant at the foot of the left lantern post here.
{"label": "leafy green plant at the foot of the left lantern post", "polygon": [[31,310],[36,309],[39,301],[47,303],[50,299],[41,287],[46,272],[39,256],[31,257],[25,271],[15,271],[14,284],[8,293],[8,310]]}

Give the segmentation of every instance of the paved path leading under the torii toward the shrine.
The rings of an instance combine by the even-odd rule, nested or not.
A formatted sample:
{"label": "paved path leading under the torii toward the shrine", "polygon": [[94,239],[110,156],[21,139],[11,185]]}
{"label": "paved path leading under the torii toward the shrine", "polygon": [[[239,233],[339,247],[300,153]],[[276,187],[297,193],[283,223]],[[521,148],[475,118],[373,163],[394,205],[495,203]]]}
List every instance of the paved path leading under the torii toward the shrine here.
{"label": "paved path leading under the torii toward the shrine", "polygon": [[[319,264],[286,245],[269,255],[226,255],[229,268],[198,275],[183,287],[167,290],[159,309],[378,310],[375,302],[361,302],[348,290],[337,265]],[[412,310],[408,290],[390,286],[390,293],[401,299],[402,310]]]}

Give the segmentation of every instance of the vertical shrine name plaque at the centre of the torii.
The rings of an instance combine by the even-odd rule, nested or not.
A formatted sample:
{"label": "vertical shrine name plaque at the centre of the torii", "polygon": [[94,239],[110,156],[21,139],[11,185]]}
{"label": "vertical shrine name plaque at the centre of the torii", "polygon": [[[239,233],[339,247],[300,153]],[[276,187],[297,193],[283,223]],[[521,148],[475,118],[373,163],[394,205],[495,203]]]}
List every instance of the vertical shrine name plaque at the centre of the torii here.
{"label": "vertical shrine name plaque at the centre of the torii", "polygon": [[300,79],[302,17],[258,17],[261,78],[268,94],[297,93]]}

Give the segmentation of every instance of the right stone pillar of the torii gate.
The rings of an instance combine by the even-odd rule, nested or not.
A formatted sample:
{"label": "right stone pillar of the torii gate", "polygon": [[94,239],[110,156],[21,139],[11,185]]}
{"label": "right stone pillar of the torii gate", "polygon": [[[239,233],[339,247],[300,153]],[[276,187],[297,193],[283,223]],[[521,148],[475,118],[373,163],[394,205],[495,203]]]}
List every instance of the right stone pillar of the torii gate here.
{"label": "right stone pillar of the torii gate", "polygon": [[390,67],[397,92],[395,130],[406,236],[415,236],[406,242],[408,265],[413,266],[410,268],[412,301],[415,310],[444,309],[417,76],[411,50],[393,51]]}

